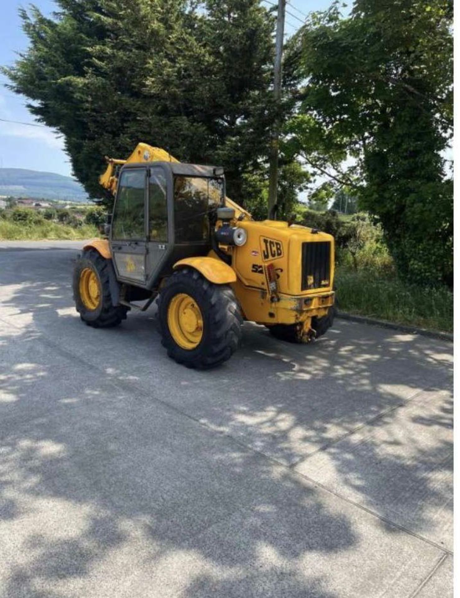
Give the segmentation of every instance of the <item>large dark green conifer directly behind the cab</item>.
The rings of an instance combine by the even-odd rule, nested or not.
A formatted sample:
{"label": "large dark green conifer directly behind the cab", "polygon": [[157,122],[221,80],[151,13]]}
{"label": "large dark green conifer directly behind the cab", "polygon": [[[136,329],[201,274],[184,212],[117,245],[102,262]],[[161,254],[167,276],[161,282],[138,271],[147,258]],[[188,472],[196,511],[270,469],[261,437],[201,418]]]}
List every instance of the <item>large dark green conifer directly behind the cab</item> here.
{"label": "large dark green conifer directly behind the cab", "polygon": [[[183,161],[222,164],[229,196],[254,201],[274,117],[267,8],[258,0],[57,5],[53,18],[20,11],[30,46],[3,72],[38,120],[63,134],[92,197],[103,197],[103,156],[125,157],[146,141]],[[288,60],[283,115],[293,106],[294,72]],[[281,180],[282,194],[286,185]]]}

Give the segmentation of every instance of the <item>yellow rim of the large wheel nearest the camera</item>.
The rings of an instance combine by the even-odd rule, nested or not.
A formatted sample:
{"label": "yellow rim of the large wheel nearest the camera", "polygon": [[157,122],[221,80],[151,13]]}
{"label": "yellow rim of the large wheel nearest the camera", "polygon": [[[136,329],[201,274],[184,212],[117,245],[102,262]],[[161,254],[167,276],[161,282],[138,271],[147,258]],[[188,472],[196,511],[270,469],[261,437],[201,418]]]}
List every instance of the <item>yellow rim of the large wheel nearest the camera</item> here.
{"label": "yellow rim of the large wheel nearest the camera", "polygon": [[193,297],[179,293],[168,306],[168,328],[182,349],[192,350],[203,338],[203,316]]}

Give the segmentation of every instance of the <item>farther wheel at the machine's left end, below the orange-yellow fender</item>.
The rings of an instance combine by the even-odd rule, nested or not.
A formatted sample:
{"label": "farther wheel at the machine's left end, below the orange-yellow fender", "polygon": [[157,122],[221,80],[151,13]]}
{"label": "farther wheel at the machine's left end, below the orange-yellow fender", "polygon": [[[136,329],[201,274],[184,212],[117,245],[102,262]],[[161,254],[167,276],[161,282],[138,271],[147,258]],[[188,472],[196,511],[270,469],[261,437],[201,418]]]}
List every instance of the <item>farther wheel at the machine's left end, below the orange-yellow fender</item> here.
{"label": "farther wheel at the machine's left end, below the orange-yellow fender", "polygon": [[109,260],[96,249],[88,249],[82,252],[73,269],[76,310],[80,318],[93,328],[111,328],[126,319],[128,308],[112,305],[109,267]]}

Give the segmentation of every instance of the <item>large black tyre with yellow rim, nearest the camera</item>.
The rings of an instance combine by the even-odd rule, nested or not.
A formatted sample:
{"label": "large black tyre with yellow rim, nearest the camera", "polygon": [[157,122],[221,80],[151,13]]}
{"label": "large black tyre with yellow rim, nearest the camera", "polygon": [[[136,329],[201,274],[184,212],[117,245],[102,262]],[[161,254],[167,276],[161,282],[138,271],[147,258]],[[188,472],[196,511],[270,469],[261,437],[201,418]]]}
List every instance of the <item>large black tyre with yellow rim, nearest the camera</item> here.
{"label": "large black tyre with yellow rim, nearest the camera", "polygon": [[161,289],[158,322],[168,356],[206,370],[229,359],[241,342],[240,306],[228,285],[214,285],[183,268]]}

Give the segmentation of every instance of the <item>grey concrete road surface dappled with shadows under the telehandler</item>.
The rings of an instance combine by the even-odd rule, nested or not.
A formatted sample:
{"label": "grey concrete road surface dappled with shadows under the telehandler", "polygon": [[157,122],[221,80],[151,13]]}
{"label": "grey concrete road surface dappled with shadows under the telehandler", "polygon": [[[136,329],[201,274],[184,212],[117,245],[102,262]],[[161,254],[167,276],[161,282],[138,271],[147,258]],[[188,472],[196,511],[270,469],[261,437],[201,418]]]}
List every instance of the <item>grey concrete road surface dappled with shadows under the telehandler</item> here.
{"label": "grey concrete road surface dappled with shadows under the telehandler", "polygon": [[82,324],[77,246],[0,244],[2,598],[452,596],[451,344],[245,324],[188,370],[154,310]]}

